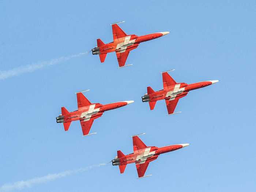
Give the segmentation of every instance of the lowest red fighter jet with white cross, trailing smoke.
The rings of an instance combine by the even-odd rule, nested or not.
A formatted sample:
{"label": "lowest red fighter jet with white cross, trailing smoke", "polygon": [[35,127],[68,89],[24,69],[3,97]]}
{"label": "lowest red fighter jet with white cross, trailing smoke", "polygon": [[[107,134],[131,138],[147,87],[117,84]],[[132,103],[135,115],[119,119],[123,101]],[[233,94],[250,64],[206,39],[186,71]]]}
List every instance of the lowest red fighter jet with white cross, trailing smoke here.
{"label": "lowest red fighter jet with white cross, trailing smoke", "polygon": [[[139,134],[143,135],[145,133]],[[177,149],[188,146],[189,144],[175,144],[166,147],[147,147],[138,135],[132,136],[133,142],[133,153],[124,155],[121,151],[117,151],[117,157],[112,160],[112,165],[118,165],[120,173],[124,173],[125,167],[129,163],[135,163],[139,178],[148,177],[151,175],[144,176],[148,164],[158,158],[158,155],[175,151]]]}

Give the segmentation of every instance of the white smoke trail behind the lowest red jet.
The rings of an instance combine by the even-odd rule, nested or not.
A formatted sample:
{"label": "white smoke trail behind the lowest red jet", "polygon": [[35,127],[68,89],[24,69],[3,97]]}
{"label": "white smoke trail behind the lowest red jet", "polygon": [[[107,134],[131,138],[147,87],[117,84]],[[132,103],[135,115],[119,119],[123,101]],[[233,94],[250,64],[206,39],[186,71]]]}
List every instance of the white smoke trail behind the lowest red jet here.
{"label": "white smoke trail behind the lowest red jet", "polygon": [[67,171],[60,172],[60,173],[48,174],[46,176],[35,177],[35,178],[25,180],[25,181],[22,180],[22,181],[17,181],[17,182],[10,183],[10,184],[4,184],[0,187],[0,192],[7,192],[7,191],[13,191],[13,190],[21,190],[24,188],[30,188],[33,185],[45,183],[48,181],[53,181],[58,178],[67,177],[67,176],[70,176],[70,175],[73,175],[76,173],[86,172],[87,170],[93,169],[95,167],[104,166],[104,165],[106,165],[106,163],[100,163],[98,165],[91,165],[91,166],[84,167],[81,169],[67,170]]}

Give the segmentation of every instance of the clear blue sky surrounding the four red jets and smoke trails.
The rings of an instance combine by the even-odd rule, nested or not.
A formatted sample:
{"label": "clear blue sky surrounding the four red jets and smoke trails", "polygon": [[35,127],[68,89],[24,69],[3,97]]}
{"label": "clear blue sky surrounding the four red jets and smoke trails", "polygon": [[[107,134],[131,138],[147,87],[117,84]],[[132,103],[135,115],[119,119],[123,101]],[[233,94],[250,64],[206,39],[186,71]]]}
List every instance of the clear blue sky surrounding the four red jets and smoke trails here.
{"label": "clear blue sky surrounding the four red jets and smoke trails", "polygon": [[[0,80],[0,186],[105,163],[117,150],[132,153],[131,135],[146,132],[148,146],[191,145],[161,155],[136,180],[134,164],[34,185],[29,192],[256,191],[255,1],[0,1],[0,70],[85,52],[96,39],[112,41],[110,23],[125,20],[127,34],[171,31],[139,45],[131,67],[117,69],[115,53],[101,64],[88,54]],[[174,116],[164,101],[153,111],[141,96],[162,89],[160,72],[177,82],[220,82],[189,92]],[[55,117],[77,109],[76,91],[102,104],[135,100],[105,112],[82,137],[79,122],[68,132]]]}

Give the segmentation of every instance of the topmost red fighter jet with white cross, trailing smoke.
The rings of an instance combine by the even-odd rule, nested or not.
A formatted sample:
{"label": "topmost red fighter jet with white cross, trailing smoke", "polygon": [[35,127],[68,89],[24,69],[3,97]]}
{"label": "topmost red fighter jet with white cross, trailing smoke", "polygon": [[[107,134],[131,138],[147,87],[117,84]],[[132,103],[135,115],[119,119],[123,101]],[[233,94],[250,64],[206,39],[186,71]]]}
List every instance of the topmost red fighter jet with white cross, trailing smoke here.
{"label": "topmost red fighter jet with white cross, trailing smoke", "polygon": [[[118,23],[123,23],[123,22],[118,22]],[[101,39],[97,39],[97,47],[95,47],[91,51],[93,54],[99,54],[99,59],[101,60],[101,63],[105,61],[107,53],[116,52],[119,67],[124,67],[125,61],[127,60],[129,52],[133,49],[136,49],[141,42],[162,37],[163,35],[167,35],[170,33],[170,32],[159,32],[159,33],[151,33],[143,36],[127,35],[117,25],[117,23],[112,24],[112,31],[113,31],[113,39],[114,39],[113,42],[104,44],[103,41],[101,41]]]}

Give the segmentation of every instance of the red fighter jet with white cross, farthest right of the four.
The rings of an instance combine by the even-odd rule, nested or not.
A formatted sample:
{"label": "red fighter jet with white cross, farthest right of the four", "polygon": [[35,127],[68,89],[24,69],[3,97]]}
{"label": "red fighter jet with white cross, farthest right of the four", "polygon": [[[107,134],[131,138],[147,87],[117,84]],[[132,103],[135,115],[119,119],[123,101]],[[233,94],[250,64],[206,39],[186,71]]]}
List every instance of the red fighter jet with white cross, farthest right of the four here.
{"label": "red fighter jet with white cross, farthest right of the four", "polygon": [[[170,71],[174,71],[174,69]],[[174,113],[176,105],[179,99],[185,97],[189,91],[206,87],[218,82],[218,80],[210,80],[192,84],[176,83],[176,81],[173,80],[173,78],[167,72],[168,71],[162,72],[163,89],[160,91],[154,91],[151,87],[147,87],[147,94],[142,96],[142,102],[149,102],[150,110],[153,110],[155,103],[158,100],[165,99],[169,115],[180,113]]]}

